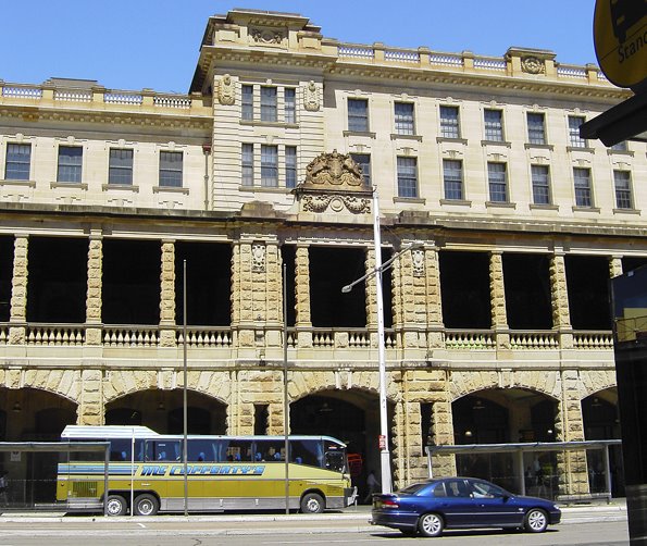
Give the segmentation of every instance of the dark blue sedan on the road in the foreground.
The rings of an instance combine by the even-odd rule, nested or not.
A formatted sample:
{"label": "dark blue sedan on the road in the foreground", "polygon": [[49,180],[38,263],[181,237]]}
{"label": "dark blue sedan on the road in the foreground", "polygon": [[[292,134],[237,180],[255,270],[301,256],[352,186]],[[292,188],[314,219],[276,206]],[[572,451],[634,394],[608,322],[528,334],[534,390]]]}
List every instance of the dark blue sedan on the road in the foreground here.
{"label": "dark blue sedan on the road in the foreground", "polygon": [[444,529],[503,528],[542,533],[559,523],[561,510],[549,500],[513,495],[475,477],[444,477],[397,493],[373,495],[373,525],[439,536]]}

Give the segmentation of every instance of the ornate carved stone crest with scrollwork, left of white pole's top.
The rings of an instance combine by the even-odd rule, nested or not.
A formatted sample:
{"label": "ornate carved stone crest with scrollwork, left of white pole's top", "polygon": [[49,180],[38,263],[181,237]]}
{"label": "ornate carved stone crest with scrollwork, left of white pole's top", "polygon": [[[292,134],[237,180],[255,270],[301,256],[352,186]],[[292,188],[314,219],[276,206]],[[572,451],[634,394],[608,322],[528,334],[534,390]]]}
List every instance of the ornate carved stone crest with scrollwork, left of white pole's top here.
{"label": "ornate carved stone crest with scrollwork, left of white pole's top", "polygon": [[295,188],[304,212],[371,212],[373,188],[366,184],[362,169],[347,153],[333,150],[310,162],[306,179]]}

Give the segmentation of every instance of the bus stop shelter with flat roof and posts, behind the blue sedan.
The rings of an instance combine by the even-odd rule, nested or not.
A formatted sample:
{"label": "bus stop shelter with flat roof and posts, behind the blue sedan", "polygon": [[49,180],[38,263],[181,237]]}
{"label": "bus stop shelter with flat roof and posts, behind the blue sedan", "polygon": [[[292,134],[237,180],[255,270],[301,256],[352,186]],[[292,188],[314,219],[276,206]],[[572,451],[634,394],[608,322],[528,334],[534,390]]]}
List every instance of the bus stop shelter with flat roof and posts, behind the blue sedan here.
{"label": "bus stop shelter with flat roof and posts, behind the blue sedan", "polygon": [[517,457],[518,468],[521,469],[518,475],[519,492],[526,494],[525,476],[523,473],[523,456],[528,452],[564,452],[582,450],[600,450],[602,454],[602,471],[605,473],[605,485],[607,499],[611,496],[611,468],[609,463],[609,447],[622,445],[621,439],[599,439],[585,442],[524,442],[518,444],[464,444],[453,446],[426,446],[427,466],[430,477],[434,477],[433,456],[434,455],[494,455],[513,454]]}

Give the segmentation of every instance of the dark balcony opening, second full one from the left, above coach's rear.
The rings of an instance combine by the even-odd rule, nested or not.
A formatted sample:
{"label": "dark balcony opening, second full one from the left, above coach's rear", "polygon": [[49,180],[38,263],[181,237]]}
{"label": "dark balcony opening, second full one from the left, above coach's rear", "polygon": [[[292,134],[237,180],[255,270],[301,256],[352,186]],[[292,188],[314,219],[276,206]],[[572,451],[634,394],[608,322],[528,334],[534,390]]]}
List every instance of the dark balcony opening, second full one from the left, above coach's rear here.
{"label": "dark balcony opening, second full one from the left, above coach's rear", "polygon": [[103,307],[105,324],[160,322],[159,240],[103,240]]}

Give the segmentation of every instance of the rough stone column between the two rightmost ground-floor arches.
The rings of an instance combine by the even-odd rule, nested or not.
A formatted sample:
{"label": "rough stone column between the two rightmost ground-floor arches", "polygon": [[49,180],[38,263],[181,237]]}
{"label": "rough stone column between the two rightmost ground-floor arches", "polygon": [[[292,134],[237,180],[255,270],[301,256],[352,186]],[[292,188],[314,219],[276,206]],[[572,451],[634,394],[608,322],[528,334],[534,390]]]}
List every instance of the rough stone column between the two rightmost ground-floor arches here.
{"label": "rough stone column between the two rightmost ground-floor arches", "polygon": [[[561,383],[562,397],[558,405],[559,411],[556,419],[557,440],[582,442],[585,438],[578,372],[576,370],[563,371]],[[560,494],[576,495],[589,492],[585,450],[558,452],[557,471]]]}

